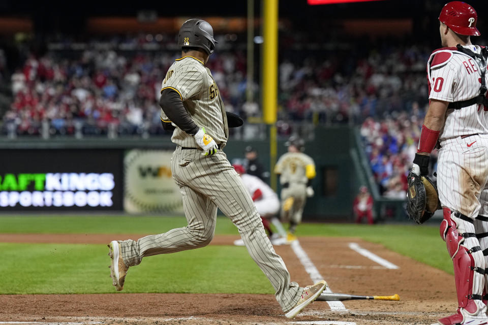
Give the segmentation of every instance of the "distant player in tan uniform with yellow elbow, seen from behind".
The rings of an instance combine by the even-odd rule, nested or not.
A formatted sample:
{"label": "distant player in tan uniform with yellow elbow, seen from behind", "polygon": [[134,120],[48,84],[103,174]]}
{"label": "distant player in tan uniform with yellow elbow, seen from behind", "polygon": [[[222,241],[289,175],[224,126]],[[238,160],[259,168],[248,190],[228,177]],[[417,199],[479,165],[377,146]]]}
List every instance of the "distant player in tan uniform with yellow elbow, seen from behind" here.
{"label": "distant player in tan uniform with yellow elbow, seen from behind", "polygon": [[301,222],[301,216],[307,197],[314,196],[314,189],[310,185],[315,177],[314,160],[304,154],[304,142],[296,136],[291,136],[286,142],[288,152],[278,159],[275,173],[280,175],[281,190],[281,218],[290,222],[287,239],[296,240],[294,235],[296,226]]}

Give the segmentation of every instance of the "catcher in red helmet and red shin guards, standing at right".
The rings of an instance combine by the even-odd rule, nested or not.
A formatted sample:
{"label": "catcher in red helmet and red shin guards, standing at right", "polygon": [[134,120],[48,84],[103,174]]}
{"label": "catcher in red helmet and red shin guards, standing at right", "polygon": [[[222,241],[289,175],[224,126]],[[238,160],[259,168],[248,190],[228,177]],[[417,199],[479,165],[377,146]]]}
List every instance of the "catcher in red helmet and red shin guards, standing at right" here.
{"label": "catcher in red helmet and red shin guards, standing at right", "polygon": [[[470,5],[453,1],[439,16],[444,48],[429,58],[429,109],[412,171],[427,175],[439,142],[437,184],[444,219],[440,235],[454,264],[459,308],[439,324],[488,324],[488,50],[471,44],[480,35]],[[484,255],[484,256],[483,256]]]}

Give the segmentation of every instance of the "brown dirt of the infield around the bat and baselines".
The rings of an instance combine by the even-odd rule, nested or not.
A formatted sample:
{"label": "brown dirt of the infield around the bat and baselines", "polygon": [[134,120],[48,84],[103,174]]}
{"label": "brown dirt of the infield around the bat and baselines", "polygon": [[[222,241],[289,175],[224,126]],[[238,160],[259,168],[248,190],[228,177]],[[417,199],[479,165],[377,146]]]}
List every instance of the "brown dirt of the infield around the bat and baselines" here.
{"label": "brown dirt of the infield around the bat and baselines", "polygon": [[[106,244],[140,235],[2,235],[0,242]],[[236,236],[216,236],[213,245]],[[2,295],[0,322],[79,322],[81,324],[431,324],[455,311],[453,277],[381,245],[357,238],[300,238],[300,245],[334,292],[355,295],[399,294],[401,301],[347,301],[333,311],[318,301],[293,319],[283,316],[272,295],[105,294]],[[350,249],[354,242],[399,266],[392,270]],[[276,246],[292,280],[311,279],[290,246]],[[447,256],[447,253],[446,253]],[[446,257],[448,258],[448,257]],[[108,279],[108,277],[107,277]],[[130,275],[127,278],[130,281]]]}

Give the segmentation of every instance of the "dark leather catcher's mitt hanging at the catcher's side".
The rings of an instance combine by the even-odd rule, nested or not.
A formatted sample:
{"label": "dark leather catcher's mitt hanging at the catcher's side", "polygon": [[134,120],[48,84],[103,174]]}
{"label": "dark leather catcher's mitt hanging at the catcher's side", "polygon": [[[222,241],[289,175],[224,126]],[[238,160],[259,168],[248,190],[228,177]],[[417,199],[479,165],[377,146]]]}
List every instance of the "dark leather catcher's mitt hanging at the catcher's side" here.
{"label": "dark leather catcher's mitt hanging at the catcher's side", "polygon": [[426,176],[408,173],[407,211],[417,223],[424,223],[441,209],[437,185]]}

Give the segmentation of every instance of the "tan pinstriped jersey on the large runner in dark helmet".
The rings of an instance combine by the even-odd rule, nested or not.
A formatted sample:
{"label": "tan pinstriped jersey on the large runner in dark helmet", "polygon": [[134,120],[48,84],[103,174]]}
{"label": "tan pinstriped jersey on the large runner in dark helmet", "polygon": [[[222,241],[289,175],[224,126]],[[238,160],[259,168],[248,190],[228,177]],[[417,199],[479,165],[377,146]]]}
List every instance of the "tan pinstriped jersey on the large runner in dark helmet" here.
{"label": "tan pinstriped jersey on the large runner in dark helmet", "polygon": [[[221,148],[225,146],[229,130],[224,103],[210,70],[202,61],[193,56],[175,60],[161,88],[161,91],[166,88],[176,90],[193,121],[199,127],[205,127],[205,132],[221,144]],[[169,121],[162,109],[161,119]],[[179,127],[175,128],[171,141],[182,147],[199,147],[195,139]]]}

